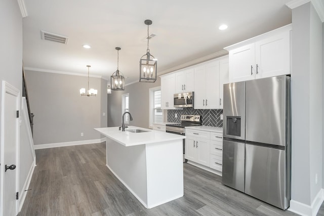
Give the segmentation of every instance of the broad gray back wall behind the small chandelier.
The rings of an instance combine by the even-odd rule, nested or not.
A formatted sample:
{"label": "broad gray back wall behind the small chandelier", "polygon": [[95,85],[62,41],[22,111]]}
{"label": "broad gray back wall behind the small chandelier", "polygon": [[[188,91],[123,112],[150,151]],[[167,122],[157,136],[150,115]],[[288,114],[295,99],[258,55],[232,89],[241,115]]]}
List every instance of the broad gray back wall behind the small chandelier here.
{"label": "broad gray back wall behind the small chandelier", "polygon": [[79,94],[79,89],[87,89],[86,76],[39,71],[25,74],[30,110],[35,114],[34,145],[101,138],[93,128],[105,126],[106,80],[90,77],[89,87],[97,89],[98,95],[87,97]]}

